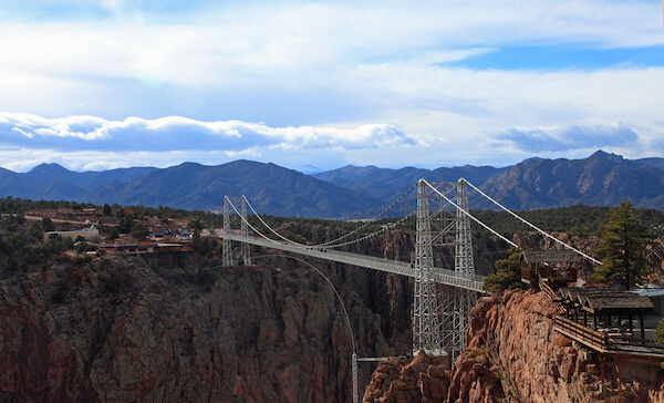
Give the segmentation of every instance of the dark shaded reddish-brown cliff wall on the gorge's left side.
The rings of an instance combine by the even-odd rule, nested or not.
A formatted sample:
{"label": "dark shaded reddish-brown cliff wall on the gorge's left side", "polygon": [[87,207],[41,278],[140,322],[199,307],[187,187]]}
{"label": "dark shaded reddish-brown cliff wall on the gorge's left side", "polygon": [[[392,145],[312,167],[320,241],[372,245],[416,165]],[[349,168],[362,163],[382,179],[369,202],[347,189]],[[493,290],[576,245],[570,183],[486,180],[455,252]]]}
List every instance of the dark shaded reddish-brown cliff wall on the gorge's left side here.
{"label": "dark shaded reddish-brown cliff wall on the gorge's left side", "polygon": [[[350,332],[320,276],[204,264],[97,259],[6,273],[0,401],[350,401]],[[386,354],[380,318],[340,292],[359,353]]]}

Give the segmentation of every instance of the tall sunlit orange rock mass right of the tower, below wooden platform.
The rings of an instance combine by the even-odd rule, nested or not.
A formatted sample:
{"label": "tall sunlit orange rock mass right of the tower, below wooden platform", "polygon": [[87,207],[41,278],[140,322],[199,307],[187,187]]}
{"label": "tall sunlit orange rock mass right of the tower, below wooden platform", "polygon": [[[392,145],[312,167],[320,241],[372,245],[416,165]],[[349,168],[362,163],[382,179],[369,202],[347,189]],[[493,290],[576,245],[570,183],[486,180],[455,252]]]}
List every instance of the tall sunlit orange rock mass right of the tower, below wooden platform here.
{"label": "tall sunlit orange rock mass right of the tower, below wooden platform", "polygon": [[615,363],[554,331],[554,314],[552,301],[533,291],[481,299],[453,373],[461,370],[468,351],[486,345],[505,394],[516,401],[609,402],[622,395],[625,402],[650,402],[658,393],[661,380],[649,383],[625,371],[621,386]]}

